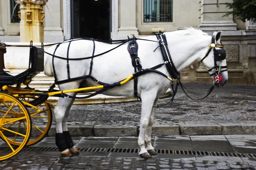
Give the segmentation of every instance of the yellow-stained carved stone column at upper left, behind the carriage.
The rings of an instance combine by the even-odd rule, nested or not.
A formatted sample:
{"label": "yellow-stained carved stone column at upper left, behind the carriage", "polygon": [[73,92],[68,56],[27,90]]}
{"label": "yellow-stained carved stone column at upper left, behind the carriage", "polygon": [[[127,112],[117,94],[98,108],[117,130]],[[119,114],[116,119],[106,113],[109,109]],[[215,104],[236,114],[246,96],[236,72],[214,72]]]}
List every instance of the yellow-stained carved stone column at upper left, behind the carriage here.
{"label": "yellow-stained carved stone column at upper left, behind the carriage", "polygon": [[44,42],[44,5],[48,0],[15,0],[20,11],[20,42]]}

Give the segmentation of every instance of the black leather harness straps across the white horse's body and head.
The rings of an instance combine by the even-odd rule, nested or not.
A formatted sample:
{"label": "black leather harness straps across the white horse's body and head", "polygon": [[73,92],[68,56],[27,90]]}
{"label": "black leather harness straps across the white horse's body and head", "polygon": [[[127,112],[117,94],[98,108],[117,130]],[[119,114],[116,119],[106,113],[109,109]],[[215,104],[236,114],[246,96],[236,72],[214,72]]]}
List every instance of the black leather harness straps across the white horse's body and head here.
{"label": "black leather harness straps across the white horse's body and head", "polygon": [[[122,42],[116,42],[116,43],[121,43],[121,44],[118,45],[118,46],[116,46],[115,48],[118,48],[119,46],[121,46],[121,45],[125,44],[126,42],[128,42],[128,47],[127,47],[127,48],[128,48],[129,53],[130,53],[130,56],[131,56],[131,63],[132,63],[132,65],[133,65],[133,67],[134,67],[134,74],[133,74],[133,76],[134,76],[134,97],[138,97],[138,96],[137,96],[137,82],[138,82],[137,77],[139,77],[140,75],[143,75],[143,74],[145,74],[145,73],[148,73],[148,72],[155,72],[155,73],[157,73],[157,74],[163,75],[164,77],[166,77],[167,79],[169,79],[169,80],[172,81],[172,84],[171,84],[171,85],[172,85],[173,96],[172,96],[172,100],[171,100],[171,101],[173,101],[174,96],[175,96],[175,94],[176,94],[176,92],[177,92],[177,86],[180,84],[182,90],[183,90],[184,93],[186,94],[186,92],[185,92],[185,90],[184,90],[185,87],[184,87],[184,86],[181,84],[181,82],[180,82],[180,79],[179,79],[179,72],[178,72],[177,69],[175,68],[175,65],[174,65],[174,63],[173,63],[173,61],[172,61],[172,57],[171,57],[171,55],[170,55],[170,53],[169,53],[169,49],[168,49],[168,46],[167,46],[168,44],[167,44],[167,41],[166,41],[166,36],[165,36],[164,34],[162,34],[161,31],[159,31],[159,32],[156,33],[155,35],[156,35],[156,37],[157,37],[157,42],[159,43],[159,46],[158,46],[158,47],[160,47],[161,52],[162,52],[162,56],[163,56],[164,63],[159,64],[159,65],[156,65],[156,66],[154,66],[154,67],[152,67],[152,68],[143,69],[143,68],[142,68],[142,65],[141,65],[141,62],[140,62],[140,58],[138,57],[138,52],[137,52],[137,51],[138,51],[138,44],[137,44],[136,40],[144,40],[144,39],[137,39],[136,37],[134,37],[134,35],[132,35],[131,38],[128,38],[128,40],[124,40],[124,41],[122,41]],[[75,39],[75,40],[76,40],[76,39]],[[91,39],[85,39],[85,40],[91,40]],[[113,84],[108,84],[108,83],[104,83],[104,82],[99,82],[99,80],[97,80],[96,78],[94,78],[94,77],[91,75],[92,68],[93,68],[93,58],[94,58],[94,57],[98,57],[98,56],[100,56],[100,55],[102,55],[102,54],[106,54],[106,53],[108,53],[109,51],[112,51],[112,50],[115,49],[115,48],[113,48],[113,49],[111,49],[111,50],[109,50],[109,51],[106,51],[106,52],[104,52],[104,53],[102,53],[102,54],[94,55],[94,51],[95,51],[95,42],[94,42],[94,40],[92,40],[92,41],[93,41],[93,54],[92,54],[91,57],[84,57],[84,58],[79,58],[79,59],[76,59],[76,58],[75,58],[75,59],[73,59],[73,58],[70,59],[70,58],[68,57],[69,48],[68,48],[68,51],[67,51],[67,58],[55,56],[55,51],[57,50],[57,48],[58,48],[58,46],[60,45],[60,43],[56,46],[53,55],[47,53],[47,54],[49,54],[49,55],[52,55],[53,72],[54,72],[54,75],[55,75],[55,83],[51,86],[51,88],[49,89],[49,91],[53,90],[53,88],[55,87],[55,84],[62,84],[62,83],[71,82],[71,81],[74,81],[74,80],[81,80],[81,79],[88,79],[88,78],[89,78],[89,79],[92,79],[93,81],[95,81],[95,82],[97,82],[97,83],[99,83],[100,85],[103,85],[104,88],[103,88],[102,90],[100,90],[100,91],[94,93],[94,94],[91,94],[91,95],[85,96],[85,97],[81,97],[81,98],[69,96],[69,95],[67,95],[67,94],[61,94],[61,95],[55,95],[55,96],[58,96],[58,97],[70,97],[70,98],[77,98],[77,99],[85,99],[85,98],[89,98],[89,97],[91,97],[91,96],[95,96],[96,94],[100,94],[100,93],[102,93],[103,91],[106,91],[106,90],[108,90],[108,89],[110,89],[110,88],[113,88],[113,87],[116,87],[116,86],[120,86],[120,85],[121,85],[121,84],[120,84],[121,81],[120,81],[120,82],[113,83]],[[152,40],[148,40],[148,41],[152,41]],[[71,43],[71,42],[72,42],[72,40],[69,42],[69,45],[68,45],[68,46],[70,46],[70,43]],[[113,42],[115,42],[115,41],[112,41],[112,43],[113,43]],[[154,42],[156,42],[156,41],[154,41]],[[203,59],[201,59],[201,62],[209,55],[211,49],[214,48],[213,50],[214,50],[214,65],[215,65],[215,66],[212,67],[211,69],[208,69],[208,71],[210,72],[210,71],[212,71],[212,69],[215,69],[215,73],[214,73],[214,74],[210,74],[210,75],[213,76],[213,75],[216,74],[216,76],[218,77],[221,72],[227,71],[227,69],[224,69],[224,70],[221,70],[221,71],[220,71],[220,69],[221,69],[221,68],[227,68],[227,66],[218,66],[217,63],[216,63],[216,61],[224,60],[224,59],[226,58],[226,53],[225,53],[225,50],[223,49],[224,45],[222,45],[222,44],[221,44],[221,45],[215,45],[214,42],[215,42],[215,36],[213,35],[213,36],[212,36],[211,45],[209,45],[209,48],[208,48],[208,50],[207,50],[207,54],[205,55],[205,57],[204,57]],[[158,47],[157,47],[157,48],[158,48]],[[221,48],[221,49],[216,49],[216,47]],[[157,49],[157,48],[156,48],[156,49]],[[156,49],[155,49],[155,50],[156,50]],[[154,51],[155,51],[155,50],[154,50]],[[66,59],[66,60],[67,60],[67,77],[68,77],[68,79],[66,79],[66,80],[61,80],[61,81],[57,81],[56,74],[55,74],[55,68],[54,68],[54,64],[53,64],[54,57],[60,58],[60,59]],[[70,73],[69,73],[69,60],[81,60],[81,59],[89,59],[89,58],[91,59],[91,63],[90,63],[90,73],[89,73],[89,75],[82,76],[82,77],[70,78]],[[165,74],[161,73],[160,71],[155,70],[155,69],[157,69],[157,68],[160,68],[160,67],[163,66],[163,65],[166,65],[166,68],[167,68],[169,74],[171,75],[171,77],[172,77],[173,79],[177,79],[177,85],[176,85],[175,90],[174,90],[174,88],[173,88],[173,79],[167,77]],[[217,81],[216,81],[216,82],[217,82]],[[204,97],[201,98],[201,99],[204,99],[205,97],[207,97],[207,96],[212,92],[213,88],[214,88],[214,85],[212,85],[212,87],[211,87],[206,93],[204,93],[204,94],[207,94],[207,95],[204,96]],[[185,89],[186,89],[186,88],[185,88]],[[187,90],[187,89],[186,89],[186,90]],[[188,90],[187,90],[187,91],[188,91]],[[190,91],[189,91],[189,92],[190,92]],[[190,92],[190,93],[192,93],[192,92]],[[193,94],[193,93],[192,93],[192,94]],[[187,95],[189,98],[191,98],[188,94],[186,94],[186,95]],[[203,94],[196,94],[196,95],[203,95]],[[191,98],[191,99],[192,99],[192,98]],[[196,99],[196,100],[198,100],[198,99]]]}

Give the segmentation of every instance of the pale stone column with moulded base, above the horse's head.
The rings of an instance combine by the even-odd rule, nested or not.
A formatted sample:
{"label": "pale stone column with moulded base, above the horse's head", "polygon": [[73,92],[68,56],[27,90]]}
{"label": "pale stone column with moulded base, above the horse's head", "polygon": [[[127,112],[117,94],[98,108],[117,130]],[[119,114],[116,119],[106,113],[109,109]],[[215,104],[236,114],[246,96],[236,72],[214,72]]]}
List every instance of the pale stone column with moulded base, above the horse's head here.
{"label": "pale stone column with moulded base, above the horse's head", "polygon": [[201,4],[201,24],[198,26],[203,31],[236,30],[233,15],[222,17],[230,9],[225,3],[232,0],[199,0]]}

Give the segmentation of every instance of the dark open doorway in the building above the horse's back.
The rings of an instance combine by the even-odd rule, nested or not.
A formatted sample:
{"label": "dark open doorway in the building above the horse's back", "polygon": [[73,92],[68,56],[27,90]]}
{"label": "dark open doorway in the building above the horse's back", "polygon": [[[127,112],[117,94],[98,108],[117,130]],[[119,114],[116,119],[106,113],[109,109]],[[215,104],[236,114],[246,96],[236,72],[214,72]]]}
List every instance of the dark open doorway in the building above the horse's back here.
{"label": "dark open doorway in the building above the horse's back", "polygon": [[74,24],[78,28],[73,28],[73,37],[110,40],[110,0],[78,0],[77,9],[79,23]]}

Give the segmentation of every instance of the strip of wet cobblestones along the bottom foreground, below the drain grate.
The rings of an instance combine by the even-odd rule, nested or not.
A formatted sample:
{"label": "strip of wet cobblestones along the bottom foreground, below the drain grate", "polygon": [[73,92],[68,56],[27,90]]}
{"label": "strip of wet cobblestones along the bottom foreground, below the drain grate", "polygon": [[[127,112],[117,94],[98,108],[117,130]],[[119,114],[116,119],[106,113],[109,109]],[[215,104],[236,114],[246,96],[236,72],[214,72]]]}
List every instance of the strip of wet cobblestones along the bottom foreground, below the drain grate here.
{"label": "strip of wet cobblestones along the bottom foreground, below the drain grate", "polygon": [[255,170],[256,163],[123,157],[33,155],[0,162],[1,170]]}

